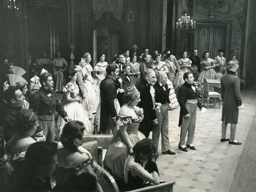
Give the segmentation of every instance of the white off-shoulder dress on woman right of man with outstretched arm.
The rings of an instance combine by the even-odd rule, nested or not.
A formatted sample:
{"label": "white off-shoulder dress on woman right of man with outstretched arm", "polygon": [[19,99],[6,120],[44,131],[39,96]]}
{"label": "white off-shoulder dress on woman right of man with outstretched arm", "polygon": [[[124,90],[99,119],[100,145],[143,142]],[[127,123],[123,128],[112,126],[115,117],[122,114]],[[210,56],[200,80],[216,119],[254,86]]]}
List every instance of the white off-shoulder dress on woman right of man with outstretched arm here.
{"label": "white off-shoulder dress on woman right of man with outstretched arm", "polygon": [[[84,123],[84,135],[87,134],[91,134],[91,123],[89,121],[89,118],[84,110],[84,107],[81,103],[78,102],[69,102],[67,101],[67,93],[70,92],[70,97],[73,99],[79,98],[78,94],[79,94],[79,88],[78,85],[76,84],[72,84],[71,82],[69,82],[64,88],[63,88],[63,92],[65,93],[65,95],[63,95],[62,97],[62,106],[64,108],[64,110],[67,112],[67,115],[72,119],[72,120],[76,120],[76,121],[81,121]],[[63,118],[61,118],[61,116],[59,116],[58,118],[58,122],[57,122],[57,128],[58,128],[58,132],[59,132],[59,136],[62,133],[62,129],[65,126],[66,121],[63,120]]]}

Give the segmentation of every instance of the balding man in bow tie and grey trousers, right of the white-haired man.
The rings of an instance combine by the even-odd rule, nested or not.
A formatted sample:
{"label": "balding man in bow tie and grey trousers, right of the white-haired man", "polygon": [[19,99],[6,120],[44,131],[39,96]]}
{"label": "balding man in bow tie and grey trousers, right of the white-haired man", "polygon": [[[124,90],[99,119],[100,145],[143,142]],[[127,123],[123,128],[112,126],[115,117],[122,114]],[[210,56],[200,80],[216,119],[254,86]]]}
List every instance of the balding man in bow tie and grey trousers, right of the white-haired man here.
{"label": "balding man in bow tie and grey trousers, right of the white-haired man", "polygon": [[168,125],[168,108],[169,108],[169,93],[170,89],[166,84],[168,78],[164,71],[158,71],[156,73],[157,82],[154,85],[155,88],[155,101],[156,101],[156,116],[158,124],[153,127],[152,140],[155,147],[158,149],[158,141],[161,132],[162,137],[162,154],[175,155],[170,150],[169,144],[169,125]]}

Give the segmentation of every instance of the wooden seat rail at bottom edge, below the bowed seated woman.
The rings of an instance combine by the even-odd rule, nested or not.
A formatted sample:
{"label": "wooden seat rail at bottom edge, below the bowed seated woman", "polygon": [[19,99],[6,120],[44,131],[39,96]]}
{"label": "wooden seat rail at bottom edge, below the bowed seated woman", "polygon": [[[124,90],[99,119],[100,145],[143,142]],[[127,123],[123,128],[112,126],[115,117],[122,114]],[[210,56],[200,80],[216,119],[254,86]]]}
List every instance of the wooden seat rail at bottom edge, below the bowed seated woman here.
{"label": "wooden seat rail at bottom edge, below the bowed seated woman", "polygon": [[159,185],[143,187],[140,189],[131,190],[129,192],[173,192],[173,185],[175,181],[164,182]]}

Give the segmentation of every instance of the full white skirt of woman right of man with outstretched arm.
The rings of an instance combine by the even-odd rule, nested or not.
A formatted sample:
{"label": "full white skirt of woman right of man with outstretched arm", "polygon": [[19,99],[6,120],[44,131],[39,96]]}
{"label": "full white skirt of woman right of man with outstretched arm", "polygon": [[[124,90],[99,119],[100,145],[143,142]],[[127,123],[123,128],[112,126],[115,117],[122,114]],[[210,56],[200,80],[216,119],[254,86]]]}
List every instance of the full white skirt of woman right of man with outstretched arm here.
{"label": "full white skirt of woman right of man with outstretched arm", "polygon": [[[67,115],[72,120],[81,121],[84,123],[84,127],[85,127],[84,135],[88,135],[88,134],[92,133],[91,123],[89,121],[89,118],[88,118],[82,104],[80,104],[78,102],[68,102],[63,105],[63,108],[67,112]],[[61,116],[59,116],[58,122],[57,122],[59,137],[62,133],[62,129],[65,126],[65,124],[66,124],[66,121],[64,121],[64,119],[62,119]]]}

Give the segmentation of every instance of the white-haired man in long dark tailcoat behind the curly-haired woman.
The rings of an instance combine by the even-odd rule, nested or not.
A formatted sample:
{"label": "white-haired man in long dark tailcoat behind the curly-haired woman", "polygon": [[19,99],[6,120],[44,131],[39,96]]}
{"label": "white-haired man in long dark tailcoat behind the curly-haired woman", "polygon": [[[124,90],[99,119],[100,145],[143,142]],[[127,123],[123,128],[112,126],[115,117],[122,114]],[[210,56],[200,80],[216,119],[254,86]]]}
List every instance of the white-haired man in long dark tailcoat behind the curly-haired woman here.
{"label": "white-haired man in long dark tailcoat behind the curly-haired woman", "polygon": [[153,125],[158,124],[155,112],[155,89],[153,87],[156,82],[156,73],[153,69],[147,69],[144,75],[145,79],[137,86],[141,99],[138,107],[143,108],[144,111],[144,119],[139,125],[139,131],[148,137],[150,131],[153,130]]}

